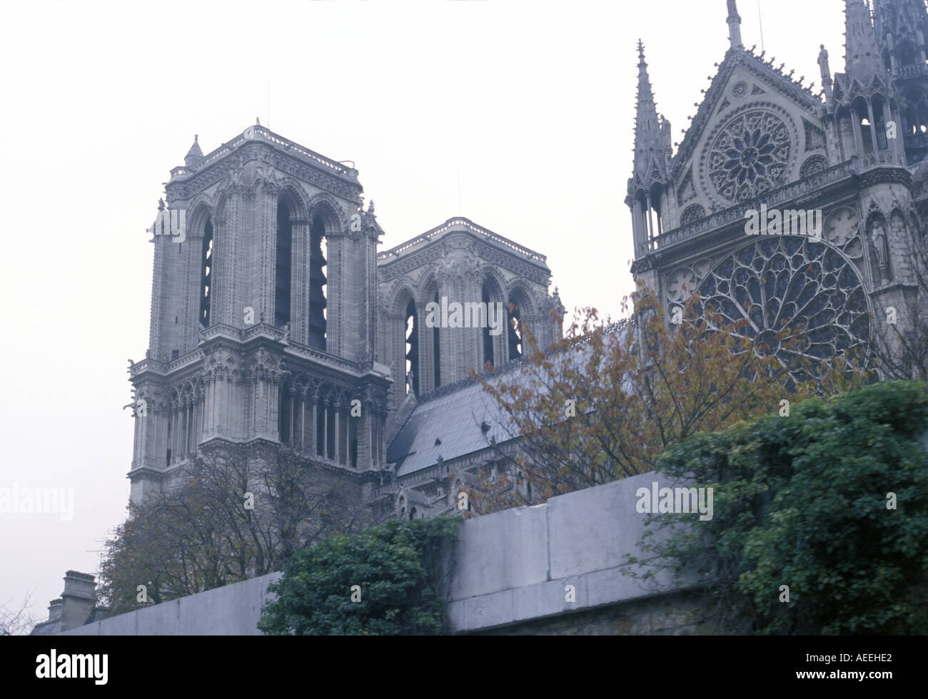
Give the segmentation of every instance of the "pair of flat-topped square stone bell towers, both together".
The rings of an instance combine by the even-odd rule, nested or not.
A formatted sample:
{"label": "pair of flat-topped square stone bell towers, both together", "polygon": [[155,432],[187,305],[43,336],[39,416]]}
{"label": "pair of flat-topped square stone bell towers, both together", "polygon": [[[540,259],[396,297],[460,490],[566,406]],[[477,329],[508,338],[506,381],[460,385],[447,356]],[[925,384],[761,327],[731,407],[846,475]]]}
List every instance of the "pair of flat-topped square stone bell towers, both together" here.
{"label": "pair of flat-topped square stone bell towers, both together", "polygon": [[[171,171],[148,231],[148,350],[129,367],[134,502],[204,450],[248,460],[275,444],[348,475],[356,488],[344,494],[368,502],[393,479],[392,413],[404,419],[416,394],[484,360],[518,359],[520,323],[560,337],[543,255],[467,219],[379,255],[357,175],[260,125],[205,156],[195,138]],[[432,329],[425,305],[438,295],[505,306],[505,325]]]}

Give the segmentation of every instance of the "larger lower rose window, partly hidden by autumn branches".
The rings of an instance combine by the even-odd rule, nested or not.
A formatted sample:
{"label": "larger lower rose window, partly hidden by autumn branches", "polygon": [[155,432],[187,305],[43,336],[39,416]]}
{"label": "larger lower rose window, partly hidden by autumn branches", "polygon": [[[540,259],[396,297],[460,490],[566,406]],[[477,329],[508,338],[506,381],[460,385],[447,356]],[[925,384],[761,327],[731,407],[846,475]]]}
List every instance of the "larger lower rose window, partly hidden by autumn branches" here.
{"label": "larger lower rose window, partly hidden by autumn branches", "polygon": [[[829,245],[791,236],[759,240],[717,264],[697,291],[690,318],[709,305],[723,323],[743,321],[741,337],[758,356],[775,355],[793,380],[820,375],[839,357],[856,367],[867,361],[867,295],[853,264]],[[787,328],[791,335],[780,344]]]}

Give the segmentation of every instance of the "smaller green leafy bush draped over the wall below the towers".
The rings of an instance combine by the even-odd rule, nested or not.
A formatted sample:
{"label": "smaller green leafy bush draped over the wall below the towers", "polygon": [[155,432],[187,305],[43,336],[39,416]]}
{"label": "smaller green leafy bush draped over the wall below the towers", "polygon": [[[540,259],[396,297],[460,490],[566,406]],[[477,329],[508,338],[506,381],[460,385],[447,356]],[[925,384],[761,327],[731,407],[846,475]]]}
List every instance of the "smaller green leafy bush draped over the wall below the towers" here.
{"label": "smaller green leafy bush draped over the wall below the towers", "polygon": [[274,635],[446,632],[443,562],[457,528],[449,517],[391,521],[303,549],[271,585],[277,599],[264,606],[258,628]]}

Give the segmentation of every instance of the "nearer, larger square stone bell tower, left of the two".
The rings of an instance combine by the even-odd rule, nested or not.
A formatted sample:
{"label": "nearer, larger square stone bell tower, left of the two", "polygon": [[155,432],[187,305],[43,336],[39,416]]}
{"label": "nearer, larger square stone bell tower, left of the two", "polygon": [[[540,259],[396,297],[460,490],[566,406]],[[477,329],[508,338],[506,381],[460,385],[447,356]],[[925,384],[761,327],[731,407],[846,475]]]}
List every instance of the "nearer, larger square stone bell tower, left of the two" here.
{"label": "nearer, larger square stone bell tower, left of the two", "polygon": [[354,168],[258,125],[205,156],[195,139],[171,171],[130,367],[135,502],[209,444],[287,443],[360,480],[383,467],[382,231],[361,192]]}

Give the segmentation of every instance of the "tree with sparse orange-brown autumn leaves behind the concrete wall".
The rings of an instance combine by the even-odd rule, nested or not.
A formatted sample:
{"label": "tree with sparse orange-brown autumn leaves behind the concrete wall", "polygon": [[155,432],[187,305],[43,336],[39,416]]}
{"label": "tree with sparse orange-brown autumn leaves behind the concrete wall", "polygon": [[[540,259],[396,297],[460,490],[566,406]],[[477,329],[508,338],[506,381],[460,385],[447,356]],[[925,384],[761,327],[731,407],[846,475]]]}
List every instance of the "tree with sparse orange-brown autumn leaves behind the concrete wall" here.
{"label": "tree with sparse orange-brown autumn leaves behind the concrete wall", "polygon": [[640,285],[623,310],[629,317],[618,324],[581,311],[549,348],[523,326],[522,365],[481,377],[502,415],[507,438],[493,446],[506,467],[477,474],[475,514],[646,473],[662,451],[696,433],[871,380],[844,358],[785,365],[770,345],[802,358],[799,323],[762,337],[747,320],[727,322],[694,295],[682,322],[670,324]]}

